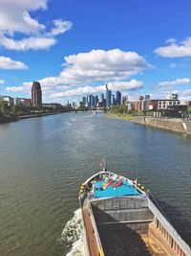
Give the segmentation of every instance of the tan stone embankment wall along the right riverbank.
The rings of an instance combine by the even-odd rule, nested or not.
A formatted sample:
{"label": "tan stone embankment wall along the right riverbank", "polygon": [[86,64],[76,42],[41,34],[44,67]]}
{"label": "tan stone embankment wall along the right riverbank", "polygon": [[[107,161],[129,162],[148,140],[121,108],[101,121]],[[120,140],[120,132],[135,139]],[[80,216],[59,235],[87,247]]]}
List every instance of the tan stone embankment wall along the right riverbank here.
{"label": "tan stone embankment wall along the right riverbank", "polygon": [[181,120],[135,116],[132,121],[145,126],[165,128],[168,130],[178,131],[180,133],[191,135],[191,123],[183,122]]}

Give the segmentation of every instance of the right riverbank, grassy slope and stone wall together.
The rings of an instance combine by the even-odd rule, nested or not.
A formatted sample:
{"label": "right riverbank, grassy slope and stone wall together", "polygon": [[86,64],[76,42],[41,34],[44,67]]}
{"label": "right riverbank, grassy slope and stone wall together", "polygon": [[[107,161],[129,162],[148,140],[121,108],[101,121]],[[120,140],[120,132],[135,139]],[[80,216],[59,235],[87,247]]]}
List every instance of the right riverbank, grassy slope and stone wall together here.
{"label": "right riverbank, grassy slope and stone wall together", "polygon": [[124,114],[112,114],[107,113],[110,118],[121,119],[132,121],[144,126],[162,128],[167,130],[172,130],[187,135],[191,135],[191,123],[185,122],[181,119],[165,119],[165,118],[154,118],[154,117],[144,117],[144,116],[133,116]]}

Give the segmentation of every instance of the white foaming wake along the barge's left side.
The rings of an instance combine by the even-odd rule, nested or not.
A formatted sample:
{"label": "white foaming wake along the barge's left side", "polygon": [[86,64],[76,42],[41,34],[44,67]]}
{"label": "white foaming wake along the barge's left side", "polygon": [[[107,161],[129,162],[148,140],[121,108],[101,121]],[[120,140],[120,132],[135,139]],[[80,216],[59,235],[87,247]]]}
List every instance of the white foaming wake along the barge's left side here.
{"label": "white foaming wake along the barge's left side", "polygon": [[67,248],[67,256],[83,256],[81,209],[74,211],[74,217],[68,221],[62,231],[59,243]]}

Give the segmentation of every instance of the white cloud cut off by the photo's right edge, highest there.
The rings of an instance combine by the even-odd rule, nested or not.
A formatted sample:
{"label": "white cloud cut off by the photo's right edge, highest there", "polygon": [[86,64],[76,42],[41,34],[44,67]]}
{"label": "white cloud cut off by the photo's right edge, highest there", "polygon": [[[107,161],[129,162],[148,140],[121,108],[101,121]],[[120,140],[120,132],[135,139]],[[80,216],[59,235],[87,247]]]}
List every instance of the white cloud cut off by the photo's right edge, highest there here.
{"label": "white cloud cut off by the photo's right edge, highest there", "polygon": [[155,53],[166,58],[191,57],[191,37],[177,43],[175,39],[168,41],[170,45],[155,49]]}

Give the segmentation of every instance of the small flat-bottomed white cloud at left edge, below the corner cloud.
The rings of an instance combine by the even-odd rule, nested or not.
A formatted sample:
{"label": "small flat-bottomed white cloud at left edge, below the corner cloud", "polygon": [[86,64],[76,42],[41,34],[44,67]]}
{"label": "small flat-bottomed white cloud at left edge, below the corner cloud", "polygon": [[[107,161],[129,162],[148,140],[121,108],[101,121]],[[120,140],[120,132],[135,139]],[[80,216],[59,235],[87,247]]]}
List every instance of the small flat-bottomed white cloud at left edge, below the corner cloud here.
{"label": "small flat-bottomed white cloud at left edge, below the corner cloud", "polygon": [[0,56],[0,69],[28,69],[29,67],[21,61]]}

